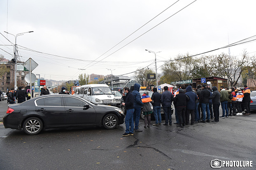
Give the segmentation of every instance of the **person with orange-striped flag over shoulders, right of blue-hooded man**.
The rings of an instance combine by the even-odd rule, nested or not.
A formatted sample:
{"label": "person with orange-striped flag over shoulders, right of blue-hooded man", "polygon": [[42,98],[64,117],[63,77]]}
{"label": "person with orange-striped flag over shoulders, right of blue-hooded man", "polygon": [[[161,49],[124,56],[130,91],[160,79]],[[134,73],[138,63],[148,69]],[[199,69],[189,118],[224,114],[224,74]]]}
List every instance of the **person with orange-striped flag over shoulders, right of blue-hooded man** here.
{"label": "person with orange-striped flag over shoulders, right of blue-hooded man", "polygon": [[142,112],[144,115],[144,128],[147,128],[150,127],[151,113],[153,113],[149,104],[149,102],[152,101],[149,92],[145,91],[141,96],[141,100],[143,103]]}

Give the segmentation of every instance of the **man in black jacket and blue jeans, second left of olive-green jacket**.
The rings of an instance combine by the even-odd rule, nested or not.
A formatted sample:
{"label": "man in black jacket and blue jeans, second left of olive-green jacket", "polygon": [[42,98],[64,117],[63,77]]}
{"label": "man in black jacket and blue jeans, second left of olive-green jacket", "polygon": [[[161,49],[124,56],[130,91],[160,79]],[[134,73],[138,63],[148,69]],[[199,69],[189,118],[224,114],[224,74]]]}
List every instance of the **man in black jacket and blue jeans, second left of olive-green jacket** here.
{"label": "man in black jacket and blue jeans, second left of olive-green jacket", "polygon": [[202,107],[202,121],[201,123],[205,123],[205,110],[207,112],[207,121],[210,122],[210,109],[209,109],[209,97],[210,97],[210,91],[207,89],[207,85],[202,85],[202,92],[201,92],[201,107]]}

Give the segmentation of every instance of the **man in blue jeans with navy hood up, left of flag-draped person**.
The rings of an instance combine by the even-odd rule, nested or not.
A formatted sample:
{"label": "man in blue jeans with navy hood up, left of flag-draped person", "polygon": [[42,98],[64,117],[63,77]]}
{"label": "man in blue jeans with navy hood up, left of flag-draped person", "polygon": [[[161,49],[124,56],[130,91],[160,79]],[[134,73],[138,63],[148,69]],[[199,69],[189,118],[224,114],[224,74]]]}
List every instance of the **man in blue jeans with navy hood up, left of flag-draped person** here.
{"label": "man in blue jeans with navy hood up, left of flag-draped person", "polygon": [[134,113],[133,121],[135,121],[135,131],[140,131],[139,129],[139,120],[140,120],[140,110],[143,106],[141,96],[140,96],[140,84],[134,84],[134,90],[132,92],[134,96]]}

